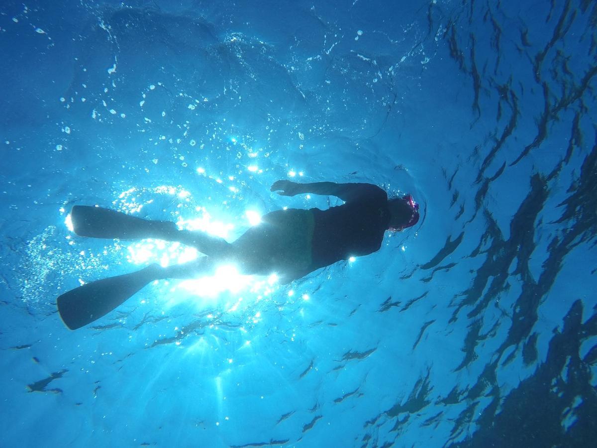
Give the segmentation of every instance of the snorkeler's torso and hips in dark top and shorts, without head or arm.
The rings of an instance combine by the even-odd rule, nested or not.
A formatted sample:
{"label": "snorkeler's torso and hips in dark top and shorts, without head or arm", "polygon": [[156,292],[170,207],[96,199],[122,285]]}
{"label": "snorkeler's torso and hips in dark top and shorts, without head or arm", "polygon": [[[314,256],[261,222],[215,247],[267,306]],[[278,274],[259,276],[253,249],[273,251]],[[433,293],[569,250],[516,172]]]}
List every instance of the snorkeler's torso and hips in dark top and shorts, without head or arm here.
{"label": "snorkeler's torso and hips in dark top and shorts, without head or arm", "polygon": [[242,272],[275,272],[288,283],[351,256],[377,251],[389,219],[386,192],[365,185],[345,204],[328,210],[289,208],[266,214],[260,225],[233,243],[235,258],[242,260]]}

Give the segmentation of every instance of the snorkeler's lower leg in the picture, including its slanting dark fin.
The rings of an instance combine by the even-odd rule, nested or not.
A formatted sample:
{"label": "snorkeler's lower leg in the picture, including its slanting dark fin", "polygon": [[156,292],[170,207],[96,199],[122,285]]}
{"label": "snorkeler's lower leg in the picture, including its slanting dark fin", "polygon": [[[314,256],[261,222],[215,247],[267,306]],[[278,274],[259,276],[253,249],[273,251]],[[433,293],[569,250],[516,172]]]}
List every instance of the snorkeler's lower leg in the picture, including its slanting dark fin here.
{"label": "snorkeler's lower leg in the picture, including its slanting dark fin", "polygon": [[122,305],[152,281],[164,278],[193,278],[210,274],[212,271],[213,262],[208,257],[167,268],[150,265],[140,271],[90,281],[67,291],[57,299],[58,312],[64,324],[69,329],[76,330]]}

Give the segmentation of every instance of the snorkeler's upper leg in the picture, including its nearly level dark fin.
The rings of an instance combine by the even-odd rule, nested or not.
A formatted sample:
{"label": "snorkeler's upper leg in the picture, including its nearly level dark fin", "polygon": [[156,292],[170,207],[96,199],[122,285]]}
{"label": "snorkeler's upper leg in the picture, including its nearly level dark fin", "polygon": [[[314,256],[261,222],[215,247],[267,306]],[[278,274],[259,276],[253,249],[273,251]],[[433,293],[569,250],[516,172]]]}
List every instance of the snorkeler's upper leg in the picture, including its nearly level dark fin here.
{"label": "snorkeler's upper leg in the picture, including its nearly level dark fin", "polygon": [[210,256],[224,256],[230,250],[229,243],[223,238],[211,237],[204,232],[180,231],[176,223],[170,221],[142,219],[109,208],[75,205],[70,220],[73,231],[81,237],[179,241]]}

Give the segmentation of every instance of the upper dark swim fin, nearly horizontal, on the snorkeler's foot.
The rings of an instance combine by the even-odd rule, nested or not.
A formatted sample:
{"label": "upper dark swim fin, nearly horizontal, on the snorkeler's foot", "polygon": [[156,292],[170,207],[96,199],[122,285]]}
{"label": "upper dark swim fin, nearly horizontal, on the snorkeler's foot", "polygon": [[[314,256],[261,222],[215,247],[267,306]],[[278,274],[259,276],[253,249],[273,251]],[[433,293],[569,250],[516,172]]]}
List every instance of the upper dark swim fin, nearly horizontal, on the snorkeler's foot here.
{"label": "upper dark swim fin, nearly horizontal, on the snorkeler's foot", "polygon": [[170,221],[150,221],[120,211],[75,205],[70,212],[73,231],[81,237],[169,240],[178,228]]}

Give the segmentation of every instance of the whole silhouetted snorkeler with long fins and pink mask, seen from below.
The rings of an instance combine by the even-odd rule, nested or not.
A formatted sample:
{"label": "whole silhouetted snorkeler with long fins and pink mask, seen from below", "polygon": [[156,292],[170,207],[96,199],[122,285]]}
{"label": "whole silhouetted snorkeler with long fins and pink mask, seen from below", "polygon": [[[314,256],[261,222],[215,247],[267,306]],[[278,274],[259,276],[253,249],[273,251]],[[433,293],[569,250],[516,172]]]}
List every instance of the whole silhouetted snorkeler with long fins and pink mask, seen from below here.
{"label": "whole silhouetted snorkeler with long fins and pink mask, seen from below", "polygon": [[165,268],[153,264],[70,290],[57,299],[64,324],[71,330],[78,329],[112,311],[151,281],[210,275],[227,262],[234,263],[241,274],[275,272],[282,283],[288,283],[351,256],[376,252],[386,230],[408,228],[419,218],[413,197],[388,200],[383,189],[368,183],[278,180],[271,191],[284,196],[303,193],[336,196],[344,204],[327,210],[272,211],[233,243],[203,232],[179,230],[170,221],[146,220],[107,208],[75,205],[70,214],[73,230],[82,237],[179,241],[206,256]]}

